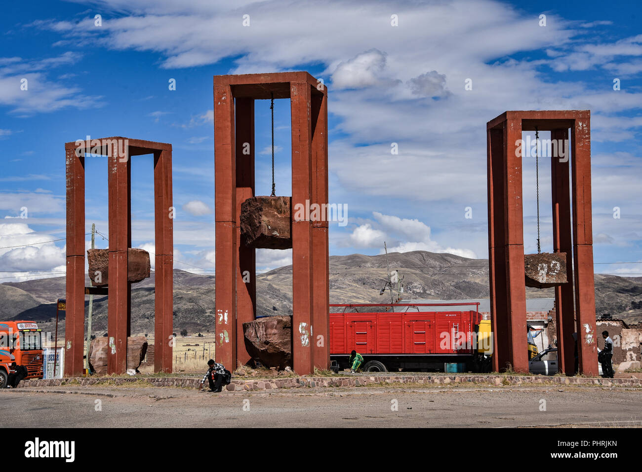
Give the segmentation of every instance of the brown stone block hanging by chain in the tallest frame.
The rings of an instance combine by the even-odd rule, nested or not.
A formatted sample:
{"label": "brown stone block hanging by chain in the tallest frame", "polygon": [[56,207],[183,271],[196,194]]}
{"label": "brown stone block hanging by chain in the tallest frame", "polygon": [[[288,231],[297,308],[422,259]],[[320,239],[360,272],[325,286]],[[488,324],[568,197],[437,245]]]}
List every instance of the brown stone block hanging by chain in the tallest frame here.
{"label": "brown stone block hanging by chain in the tallest frame", "polygon": [[250,197],[241,203],[241,241],[256,249],[292,247],[291,197]]}

